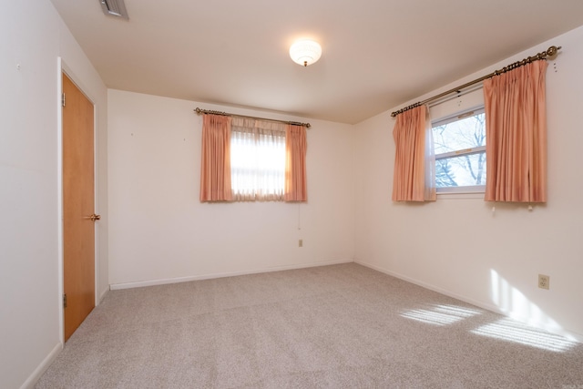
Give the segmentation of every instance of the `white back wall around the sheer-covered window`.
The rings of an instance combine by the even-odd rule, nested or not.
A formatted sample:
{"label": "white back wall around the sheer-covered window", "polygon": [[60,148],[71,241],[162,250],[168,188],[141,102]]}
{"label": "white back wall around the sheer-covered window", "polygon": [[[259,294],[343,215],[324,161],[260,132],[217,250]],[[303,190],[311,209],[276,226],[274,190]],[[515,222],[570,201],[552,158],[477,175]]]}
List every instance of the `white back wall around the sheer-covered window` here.
{"label": "white back wall around the sheer-covered window", "polygon": [[307,204],[200,203],[193,109],[281,116],[119,90],[107,101],[113,288],[352,261],[352,126],[285,118],[312,123]]}

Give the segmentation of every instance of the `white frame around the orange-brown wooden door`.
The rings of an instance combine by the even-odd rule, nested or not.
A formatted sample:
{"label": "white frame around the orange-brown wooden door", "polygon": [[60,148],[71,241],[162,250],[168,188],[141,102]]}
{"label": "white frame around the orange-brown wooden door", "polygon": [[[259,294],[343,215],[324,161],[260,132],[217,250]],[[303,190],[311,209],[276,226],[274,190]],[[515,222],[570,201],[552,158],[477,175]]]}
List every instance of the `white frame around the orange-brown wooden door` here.
{"label": "white frame around the orange-brown wooden door", "polygon": [[[91,97],[91,94],[87,93],[87,89],[83,87],[83,83],[79,81],[79,77],[76,76],[75,72],[67,67],[66,62],[62,57],[57,58],[57,96],[56,96],[56,127],[57,127],[57,200],[58,200],[58,318],[59,318],[59,341],[62,346],[65,345],[65,309],[63,307],[63,294],[65,293],[65,231],[64,231],[64,203],[63,203],[63,109],[61,97],[63,96],[63,73],[66,77],[69,77],[75,86],[87,97],[87,99],[93,105],[93,174],[94,174],[94,211],[99,213],[99,200],[97,193],[99,180],[97,179],[97,104],[96,99]],[[94,280],[94,295],[95,295],[95,306],[97,307],[99,303],[99,234],[97,226],[94,232],[95,240],[95,252],[94,252],[94,263],[95,268],[95,280]]]}

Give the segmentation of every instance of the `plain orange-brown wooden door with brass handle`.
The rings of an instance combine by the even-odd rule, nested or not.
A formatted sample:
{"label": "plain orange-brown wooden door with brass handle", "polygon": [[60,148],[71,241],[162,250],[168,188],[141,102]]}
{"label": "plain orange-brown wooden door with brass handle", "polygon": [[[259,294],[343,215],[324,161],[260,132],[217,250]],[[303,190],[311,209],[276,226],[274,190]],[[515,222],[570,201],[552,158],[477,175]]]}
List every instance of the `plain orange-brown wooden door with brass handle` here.
{"label": "plain orange-brown wooden door with brass handle", "polygon": [[63,74],[65,341],[95,307],[93,104]]}

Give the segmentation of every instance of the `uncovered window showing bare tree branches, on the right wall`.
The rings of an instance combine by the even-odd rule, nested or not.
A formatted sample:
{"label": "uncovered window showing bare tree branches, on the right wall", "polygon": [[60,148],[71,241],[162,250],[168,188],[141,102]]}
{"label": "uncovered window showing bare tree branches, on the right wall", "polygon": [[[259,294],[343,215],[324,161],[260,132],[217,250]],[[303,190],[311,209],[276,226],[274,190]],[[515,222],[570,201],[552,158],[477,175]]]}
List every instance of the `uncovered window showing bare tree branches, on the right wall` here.
{"label": "uncovered window showing bare tree branches, on the right wall", "polygon": [[437,193],[486,189],[486,116],[484,108],[432,123]]}

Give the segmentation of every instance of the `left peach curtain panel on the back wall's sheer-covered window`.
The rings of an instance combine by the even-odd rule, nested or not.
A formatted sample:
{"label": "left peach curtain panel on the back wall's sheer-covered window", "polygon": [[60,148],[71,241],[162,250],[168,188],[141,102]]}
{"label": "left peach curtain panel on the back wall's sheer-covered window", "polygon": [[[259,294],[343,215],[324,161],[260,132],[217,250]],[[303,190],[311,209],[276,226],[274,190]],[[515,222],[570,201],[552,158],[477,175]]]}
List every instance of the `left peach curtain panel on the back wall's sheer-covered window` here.
{"label": "left peach curtain panel on the back wall's sheer-covered window", "polygon": [[205,115],[202,121],[200,201],[230,201],[230,117]]}

